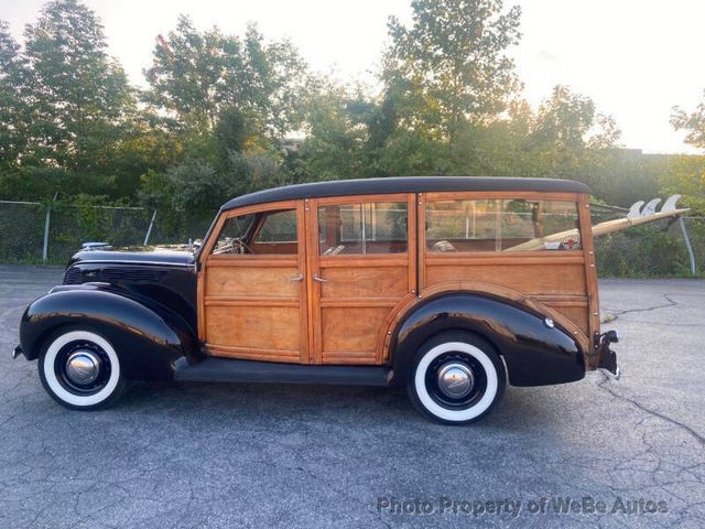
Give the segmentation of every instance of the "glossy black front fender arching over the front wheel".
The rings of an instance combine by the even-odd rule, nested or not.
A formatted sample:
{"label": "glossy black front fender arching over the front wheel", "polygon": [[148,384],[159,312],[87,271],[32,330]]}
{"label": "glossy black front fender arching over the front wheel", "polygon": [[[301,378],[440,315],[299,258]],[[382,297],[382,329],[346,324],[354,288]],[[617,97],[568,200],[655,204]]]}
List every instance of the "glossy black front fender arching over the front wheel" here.
{"label": "glossy black front fender arching over the front wheel", "polygon": [[200,356],[191,326],[170,309],[121,291],[75,285],[57,288],[28,306],[20,324],[26,358],[37,358],[46,338],[66,325],[102,334],[130,379],[170,380],[178,358]]}

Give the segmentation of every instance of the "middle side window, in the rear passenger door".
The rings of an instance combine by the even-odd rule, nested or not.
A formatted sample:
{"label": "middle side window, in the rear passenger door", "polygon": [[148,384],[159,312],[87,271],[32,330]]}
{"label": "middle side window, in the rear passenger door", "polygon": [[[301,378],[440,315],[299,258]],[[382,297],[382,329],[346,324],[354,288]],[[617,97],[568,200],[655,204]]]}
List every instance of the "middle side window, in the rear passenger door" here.
{"label": "middle side window, in the rear passenger door", "polygon": [[408,248],[405,202],[371,202],[318,207],[322,256],[404,253]]}

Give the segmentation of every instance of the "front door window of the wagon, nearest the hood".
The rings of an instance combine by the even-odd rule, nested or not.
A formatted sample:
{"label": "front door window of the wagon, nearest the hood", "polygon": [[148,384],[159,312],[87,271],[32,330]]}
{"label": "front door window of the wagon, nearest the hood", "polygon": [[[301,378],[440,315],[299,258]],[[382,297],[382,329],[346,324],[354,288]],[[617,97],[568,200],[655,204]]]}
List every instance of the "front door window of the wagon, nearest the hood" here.
{"label": "front door window of the wagon, nearest the hood", "polygon": [[213,255],[295,255],[297,251],[296,210],[280,209],[228,218]]}

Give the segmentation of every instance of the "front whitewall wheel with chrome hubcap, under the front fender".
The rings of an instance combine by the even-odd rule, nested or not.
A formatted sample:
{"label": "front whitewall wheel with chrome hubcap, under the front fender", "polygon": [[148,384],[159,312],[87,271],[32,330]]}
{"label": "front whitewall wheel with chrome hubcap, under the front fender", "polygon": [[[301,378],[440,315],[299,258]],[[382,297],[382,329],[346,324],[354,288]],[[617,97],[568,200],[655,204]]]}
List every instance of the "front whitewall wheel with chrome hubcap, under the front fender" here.
{"label": "front whitewall wheel with chrome hubcap, under the front fender", "polygon": [[51,336],[40,355],[39,370],[46,392],[74,410],[107,408],[127,385],[110,342],[87,328],[65,328]]}

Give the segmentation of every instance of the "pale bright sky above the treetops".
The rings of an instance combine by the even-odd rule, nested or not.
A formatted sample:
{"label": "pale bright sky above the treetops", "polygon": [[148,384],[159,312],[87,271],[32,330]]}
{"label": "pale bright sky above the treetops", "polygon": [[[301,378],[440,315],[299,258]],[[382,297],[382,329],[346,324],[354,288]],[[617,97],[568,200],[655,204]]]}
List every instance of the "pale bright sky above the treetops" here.
{"label": "pale bright sky above the treetops", "polygon": [[[242,33],[257,22],[268,39],[286,36],[315,71],[373,83],[390,14],[411,19],[410,0],[84,0],[105,25],[109,53],[144,85],[158,34],[180,13],[199,29]],[[0,19],[21,39],[42,0],[0,0]],[[671,127],[673,106],[705,99],[703,0],[506,0],[522,8],[511,50],[524,97],[536,108],[564,84],[616,118],[621,144],[644,152],[695,152]]]}

